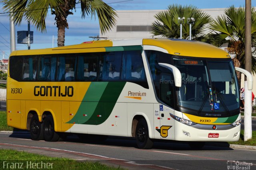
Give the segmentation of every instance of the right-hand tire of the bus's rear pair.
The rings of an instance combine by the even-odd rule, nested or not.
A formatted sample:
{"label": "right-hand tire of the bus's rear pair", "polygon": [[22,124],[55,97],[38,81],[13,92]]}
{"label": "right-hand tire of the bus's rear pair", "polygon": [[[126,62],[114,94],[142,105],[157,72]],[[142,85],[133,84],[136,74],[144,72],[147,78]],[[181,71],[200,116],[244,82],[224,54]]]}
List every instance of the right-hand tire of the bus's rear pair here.
{"label": "right-hand tire of the bus's rear pair", "polygon": [[52,115],[47,115],[44,119],[44,140],[56,142],[60,138],[59,134],[54,131],[54,121]]}

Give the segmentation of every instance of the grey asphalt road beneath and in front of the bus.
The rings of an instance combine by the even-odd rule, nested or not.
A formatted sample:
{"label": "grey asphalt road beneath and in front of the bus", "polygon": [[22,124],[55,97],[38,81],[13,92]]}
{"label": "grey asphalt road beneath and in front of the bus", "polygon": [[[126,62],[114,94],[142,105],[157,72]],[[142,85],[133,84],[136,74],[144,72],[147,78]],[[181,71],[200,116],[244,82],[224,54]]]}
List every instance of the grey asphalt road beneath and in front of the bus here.
{"label": "grey asphalt road beneath and in front of the bus", "polygon": [[[104,142],[82,142],[75,135],[63,142],[30,140],[30,134],[0,134],[0,148],[26,150],[75,160],[96,160],[128,169],[226,169],[228,160],[252,163],[256,169],[256,150],[204,146],[192,150],[181,142],[155,142],[150,150],[136,148],[132,138],[110,136]],[[242,165],[241,165],[242,167]],[[244,167],[244,166],[243,166]]]}

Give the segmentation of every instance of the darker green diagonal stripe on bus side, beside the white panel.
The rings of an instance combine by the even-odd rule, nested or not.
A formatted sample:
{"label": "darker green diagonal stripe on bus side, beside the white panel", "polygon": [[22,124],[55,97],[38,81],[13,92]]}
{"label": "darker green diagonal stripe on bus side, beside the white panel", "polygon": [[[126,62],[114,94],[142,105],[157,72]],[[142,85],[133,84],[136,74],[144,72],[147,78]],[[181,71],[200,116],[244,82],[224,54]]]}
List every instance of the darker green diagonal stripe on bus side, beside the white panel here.
{"label": "darker green diagonal stripe on bus side, beside the white panel", "polygon": [[104,123],[112,113],[125,84],[126,82],[109,82],[93,115],[82,124],[100,125]]}

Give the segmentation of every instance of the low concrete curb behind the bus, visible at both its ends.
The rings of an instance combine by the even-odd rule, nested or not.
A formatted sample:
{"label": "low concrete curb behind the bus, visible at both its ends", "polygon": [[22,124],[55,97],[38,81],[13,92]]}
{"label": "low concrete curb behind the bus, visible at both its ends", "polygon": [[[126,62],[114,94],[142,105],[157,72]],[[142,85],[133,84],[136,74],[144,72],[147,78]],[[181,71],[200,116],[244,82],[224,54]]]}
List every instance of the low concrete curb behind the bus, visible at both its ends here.
{"label": "low concrete curb behind the bus, visible at both its ends", "polygon": [[[0,131],[0,133],[12,133],[12,134],[30,134],[30,132],[23,131]],[[232,149],[250,149],[256,150],[256,146],[240,145],[240,144],[228,144],[228,143],[216,143],[216,142],[206,142],[206,146],[215,146],[222,148],[232,148]]]}

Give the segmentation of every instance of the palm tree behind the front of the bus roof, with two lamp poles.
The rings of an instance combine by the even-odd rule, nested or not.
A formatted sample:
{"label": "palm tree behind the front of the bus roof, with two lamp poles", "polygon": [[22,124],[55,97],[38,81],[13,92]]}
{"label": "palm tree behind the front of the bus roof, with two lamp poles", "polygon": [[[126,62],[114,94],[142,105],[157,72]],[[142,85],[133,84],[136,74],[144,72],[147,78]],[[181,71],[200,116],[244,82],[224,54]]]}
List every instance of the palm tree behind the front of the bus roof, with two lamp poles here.
{"label": "palm tree behind the front of the bus roof, with two lamp poles", "polygon": [[182,27],[182,37],[188,39],[189,37],[189,24],[187,18],[195,18],[192,25],[192,39],[202,37],[206,29],[206,24],[211,21],[210,15],[202,12],[195,6],[181,6],[173,4],[168,6],[168,10],[159,12],[154,16],[157,21],[152,23],[151,33],[155,36],[162,36],[166,38],[179,38],[180,37],[180,24],[178,17],[185,17]]}

